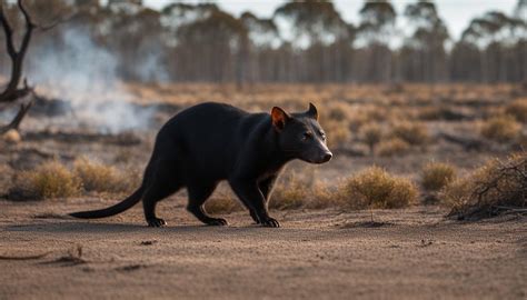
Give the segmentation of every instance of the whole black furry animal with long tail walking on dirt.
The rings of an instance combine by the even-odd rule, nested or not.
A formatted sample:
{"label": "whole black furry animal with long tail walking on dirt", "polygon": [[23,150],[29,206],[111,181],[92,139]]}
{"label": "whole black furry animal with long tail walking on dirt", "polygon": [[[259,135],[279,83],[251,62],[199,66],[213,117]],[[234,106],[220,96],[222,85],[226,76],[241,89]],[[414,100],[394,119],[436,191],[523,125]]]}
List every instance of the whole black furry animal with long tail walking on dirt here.
{"label": "whole black furry animal with long tail walking on dirt", "polygon": [[206,224],[225,226],[207,214],[203,203],[227,180],[255,222],[279,227],[267,202],[284,166],[294,159],[324,163],[331,159],[326,133],[314,104],[300,113],[275,107],[271,113],[249,113],[229,104],[202,103],[172,117],[159,131],[141,187],[122,202],[101,210],[71,213],[95,219],[120,213],[142,199],[150,227],[156,203],[186,187],[187,209]]}

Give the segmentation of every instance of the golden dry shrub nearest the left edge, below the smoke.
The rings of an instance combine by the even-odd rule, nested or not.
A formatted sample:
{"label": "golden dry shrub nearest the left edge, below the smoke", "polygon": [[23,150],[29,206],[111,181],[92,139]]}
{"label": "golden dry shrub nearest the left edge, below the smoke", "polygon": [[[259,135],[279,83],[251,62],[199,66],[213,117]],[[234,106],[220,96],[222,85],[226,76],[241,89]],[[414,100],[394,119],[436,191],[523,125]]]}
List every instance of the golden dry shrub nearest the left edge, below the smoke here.
{"label": "golden dry shrub nearest the left edge, below the smoke", "polygon": [[11,200],[42,200],[80,194],[81,181],[58,161],[49,161],[34,170],[23,171],[9,190]]}

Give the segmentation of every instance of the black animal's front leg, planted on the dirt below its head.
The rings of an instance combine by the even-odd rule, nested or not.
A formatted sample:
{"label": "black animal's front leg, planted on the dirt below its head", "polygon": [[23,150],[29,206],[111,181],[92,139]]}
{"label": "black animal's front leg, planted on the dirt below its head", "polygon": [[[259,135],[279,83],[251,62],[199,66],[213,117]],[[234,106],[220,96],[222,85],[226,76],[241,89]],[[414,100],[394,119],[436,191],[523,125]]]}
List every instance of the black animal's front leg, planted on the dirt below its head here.
{"label": "black animal's front leg, planted on the dirt below its head", "polygon": [[229,183],[241,202],[249,208],[251,216],[256,214],[259,223],[266,227],[280,227],[277,220],[269,217],[266,198],[261,193],[256,180],[233,179],[229,180]]}

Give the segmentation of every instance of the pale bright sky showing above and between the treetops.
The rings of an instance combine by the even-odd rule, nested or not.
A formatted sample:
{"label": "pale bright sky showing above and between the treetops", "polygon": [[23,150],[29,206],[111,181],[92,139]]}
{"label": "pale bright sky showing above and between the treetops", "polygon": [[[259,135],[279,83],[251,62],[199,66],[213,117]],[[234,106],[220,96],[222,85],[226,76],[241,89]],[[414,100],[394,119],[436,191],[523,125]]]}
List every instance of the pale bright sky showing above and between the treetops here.
{"label": "pale bright sky showing above and between the treetops", "polygon": [[[408,3],[416,2],[417,0],[394,0],[394,7],[397,12],[402,13],[405,7]],[[171,0],[143,0],[143,3],[148,7],[160,9],[167,6]],[[275,12],[275,9],[281,6],[284,0],[219,0],[219,1],[202,1],[191,0],[181,1],[186,3],[199,3],[199,2],[216,2],[221,9],[235,14],[240,16],[243,11],[251,11],[259,18],[270,18]],[[447,23],[450,36],[454,39],[459,39],[463,30],[467,28],[468,23],[474,17],[484,14],[489,10],[500,10],[507,14],[510,14],[516,7],[518,0],[436,0],[439,14]],[[364,0],[334,0],[337,10],[341,13],[342,18],[351,23],[357,24],[359,22],[359,10],[362,7]]]}

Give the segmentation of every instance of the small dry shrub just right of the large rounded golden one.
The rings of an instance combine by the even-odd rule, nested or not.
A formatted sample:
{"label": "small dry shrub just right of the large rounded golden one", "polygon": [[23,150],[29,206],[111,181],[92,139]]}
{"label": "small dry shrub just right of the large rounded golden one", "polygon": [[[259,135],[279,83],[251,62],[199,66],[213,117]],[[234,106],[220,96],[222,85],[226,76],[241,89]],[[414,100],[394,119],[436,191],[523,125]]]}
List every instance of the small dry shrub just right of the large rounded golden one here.
{"label": "small dry shrub just right of the large rounded golden one", "polygon": [[456,168],[448,163],[430,162],[421,171],[421,186],[427,191],[438,191],[456,179]]}

